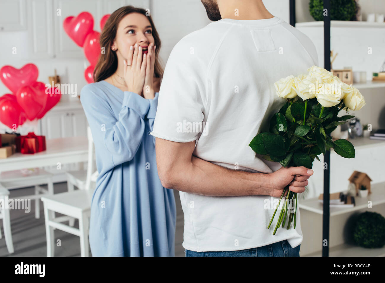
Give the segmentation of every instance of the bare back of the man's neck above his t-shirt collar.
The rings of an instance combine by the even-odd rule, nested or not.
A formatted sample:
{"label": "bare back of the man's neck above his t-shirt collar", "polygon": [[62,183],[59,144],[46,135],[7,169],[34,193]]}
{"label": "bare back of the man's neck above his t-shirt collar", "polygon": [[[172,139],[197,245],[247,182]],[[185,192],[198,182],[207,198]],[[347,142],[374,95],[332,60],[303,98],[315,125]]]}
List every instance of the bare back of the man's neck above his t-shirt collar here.
{"label": "bare back of the man's neck above his t-shirt collar", "polygon": [[218,8],[222,18],[234,20],[262,20],[274,17],[261,0],[218,0]]}

